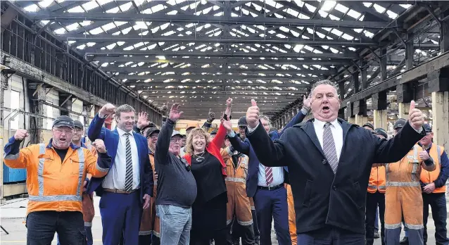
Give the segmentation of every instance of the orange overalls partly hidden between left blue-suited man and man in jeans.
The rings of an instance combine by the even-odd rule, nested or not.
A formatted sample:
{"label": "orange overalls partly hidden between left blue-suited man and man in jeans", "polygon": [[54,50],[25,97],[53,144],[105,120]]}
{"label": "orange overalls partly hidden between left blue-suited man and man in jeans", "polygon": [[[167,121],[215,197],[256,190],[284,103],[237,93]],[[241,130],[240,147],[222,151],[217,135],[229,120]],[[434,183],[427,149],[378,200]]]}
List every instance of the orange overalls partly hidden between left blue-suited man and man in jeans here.
{"label": "orange overalls partly hidden between left blue-suited man and man in jeans", "polygon": [[144,212],[142,213],[139,236],[146,236],[149,234],[153,234],[156,237],[160,237],[160,234],[159,234],[160,221],[159,221],[159,217],[156,216],[156,193],[157,193],[158,183],[156,181],[156,178],[154,177],[154,175],[156,175],[156,170],[154,169],[154,154],[150,153],[149,156],[150,156],[151,168],[153,168],[153,180],[154,180],[153,196],[151,197],[150,207],[144,209]]}

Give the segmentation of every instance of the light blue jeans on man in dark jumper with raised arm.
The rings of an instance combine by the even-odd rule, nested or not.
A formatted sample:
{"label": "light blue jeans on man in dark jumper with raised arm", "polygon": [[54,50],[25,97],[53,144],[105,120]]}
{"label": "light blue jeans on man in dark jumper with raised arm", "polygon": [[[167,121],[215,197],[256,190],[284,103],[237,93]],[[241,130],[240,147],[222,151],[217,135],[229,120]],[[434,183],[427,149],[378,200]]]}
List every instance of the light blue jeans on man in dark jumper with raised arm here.
{"label": "light blue jeans on man in dark jumper with raised arm", "polygon": [[160,219],[160,245],[189,245],[191,208],[156,205]]}

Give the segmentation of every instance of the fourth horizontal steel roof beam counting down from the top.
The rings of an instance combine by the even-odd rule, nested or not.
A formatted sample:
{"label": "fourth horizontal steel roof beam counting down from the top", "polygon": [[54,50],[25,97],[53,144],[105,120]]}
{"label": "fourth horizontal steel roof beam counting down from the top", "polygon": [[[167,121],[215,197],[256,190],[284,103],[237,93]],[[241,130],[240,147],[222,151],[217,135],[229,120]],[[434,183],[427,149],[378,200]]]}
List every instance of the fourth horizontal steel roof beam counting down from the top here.
{"label": "fourth horizontal steel roof beam counting down from the top", "polygon": [[231,74],[236,73],[265,73],[265,74],[312,74],[312,75],[335,75],[337,73],[335,68],[329,68],[329,70],[295,70],[293,68],[287,69],[260,69],[260,68],[150,68],[150,67],[118,67],[114,65],[108,65],[101,68],[105,72],[113,73],[225,73],[226,71]]}

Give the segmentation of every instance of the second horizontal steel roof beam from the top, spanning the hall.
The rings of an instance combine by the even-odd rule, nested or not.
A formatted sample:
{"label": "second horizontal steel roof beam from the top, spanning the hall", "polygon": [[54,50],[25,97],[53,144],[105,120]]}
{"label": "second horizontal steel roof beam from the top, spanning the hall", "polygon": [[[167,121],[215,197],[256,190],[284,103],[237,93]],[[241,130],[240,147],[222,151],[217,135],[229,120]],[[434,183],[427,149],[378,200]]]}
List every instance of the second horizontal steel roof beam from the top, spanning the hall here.
{"label": "second horizontal steel roof beam from the top, spanning the hall", "polygon": [[[166,42],[166,43],[220,43],[220,44],[291,44],[291,45],[308,45],[308,46],[380,46],[379,42],[356,42],[356,41],[337,41],[329,39],[303,39],[303,38],[279,38],[272,37],[269,39],[260,37],[194,37],[194,36],[167,36],[167,37],[152,37],[151,35],[139,34],[68,34],[68,40],[77,42]],[[108,51],[110,52],[110,51]],[[105,51],[106,53],[106,51]],[[107,53],[106,53],[107,54]]]}

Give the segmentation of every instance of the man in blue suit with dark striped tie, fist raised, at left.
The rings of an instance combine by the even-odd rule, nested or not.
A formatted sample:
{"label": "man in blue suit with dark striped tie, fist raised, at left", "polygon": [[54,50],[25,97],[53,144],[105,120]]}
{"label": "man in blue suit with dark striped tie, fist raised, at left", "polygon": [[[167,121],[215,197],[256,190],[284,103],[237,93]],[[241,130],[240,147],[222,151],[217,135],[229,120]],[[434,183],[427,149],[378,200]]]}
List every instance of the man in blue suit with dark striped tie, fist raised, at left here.
{"label": "man in blue suit with dark striped tie, fist raised, at left", "polygon": [[[109,115],[115,113],[117,128],[103,127]],[[134,132],[136,112],[129,105],[117,109],[108,103],[92,120],[87,136],[103,139],[113,163],[108,175],[92,177],[88,193],[96,191],[100,199],[103,244],[139,244],[142,207],[148,208],[153,194],[153,170],[148,157],[146,138]]]}

